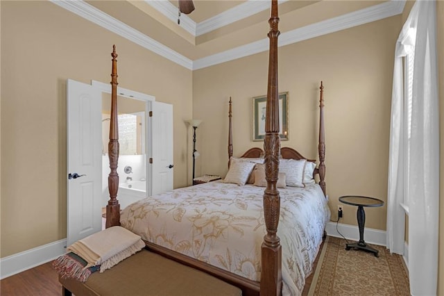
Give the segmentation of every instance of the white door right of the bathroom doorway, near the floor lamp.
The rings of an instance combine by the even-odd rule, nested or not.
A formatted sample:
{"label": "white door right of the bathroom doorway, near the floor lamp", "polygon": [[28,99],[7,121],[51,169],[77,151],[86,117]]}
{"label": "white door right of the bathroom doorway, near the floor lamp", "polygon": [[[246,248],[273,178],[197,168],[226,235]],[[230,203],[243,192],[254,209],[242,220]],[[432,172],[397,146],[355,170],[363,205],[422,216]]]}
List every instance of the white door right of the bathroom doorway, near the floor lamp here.
{"label": "white door right of the bathroom doorway, near the floor lamp", "polygon": [[173,105],[153,101],[151,194],[173,189]]}

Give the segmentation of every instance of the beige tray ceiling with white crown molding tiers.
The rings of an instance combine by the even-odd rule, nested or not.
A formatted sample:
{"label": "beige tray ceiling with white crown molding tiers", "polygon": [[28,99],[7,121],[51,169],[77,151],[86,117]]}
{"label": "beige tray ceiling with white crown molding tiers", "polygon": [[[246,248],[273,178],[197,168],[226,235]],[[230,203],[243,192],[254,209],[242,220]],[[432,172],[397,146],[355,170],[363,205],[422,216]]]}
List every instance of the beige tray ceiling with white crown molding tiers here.
{"label": "beige tray ceiling with white crown molding tiers", "polygon": [[[177,0],[57,1],[190,69],[268,50],[270,1],[194,0],[180,16]],[[404,1],[279,1],[280,46],[402,13]],[[97,20],[99,19],[99,20]],[[117,28],[117,30],[116,30]],[[265,45],[265,48],[264,48]],[[152,50],[152,49],[151,49]],[[169,57],[173,56],[173,58]]]}

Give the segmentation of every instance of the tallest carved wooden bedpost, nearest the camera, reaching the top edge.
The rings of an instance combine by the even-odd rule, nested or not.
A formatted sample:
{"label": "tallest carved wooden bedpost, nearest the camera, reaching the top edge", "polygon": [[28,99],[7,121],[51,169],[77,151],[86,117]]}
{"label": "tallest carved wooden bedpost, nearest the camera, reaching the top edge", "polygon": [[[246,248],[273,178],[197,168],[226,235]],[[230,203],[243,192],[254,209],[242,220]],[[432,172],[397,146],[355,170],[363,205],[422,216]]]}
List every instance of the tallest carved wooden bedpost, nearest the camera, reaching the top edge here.
{"label": "tallest carved wooden bedpost, nearest the camera, reaching the top edge", "polygon": [[270,52],[268,60],[268,90],[265,120],[265,178],[264,217],[266,236],[262,242],[262,273],[260,294],[280,295],[282,289],[282,250],[277,235],[280,195],[276,188],[279,174],[280,138],[279,138],[279,90],[278,90],[278,0],[271,1],[271,17],[268,20],[270,31]]}

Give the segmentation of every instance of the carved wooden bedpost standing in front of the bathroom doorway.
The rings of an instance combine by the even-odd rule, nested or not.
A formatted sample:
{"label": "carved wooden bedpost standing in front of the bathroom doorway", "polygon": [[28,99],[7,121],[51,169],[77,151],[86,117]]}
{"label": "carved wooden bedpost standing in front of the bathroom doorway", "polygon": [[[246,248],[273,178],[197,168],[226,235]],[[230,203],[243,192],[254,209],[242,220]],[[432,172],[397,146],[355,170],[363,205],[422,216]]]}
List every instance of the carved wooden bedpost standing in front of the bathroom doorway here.
{"label": "carved wooden bedpost standing in front of the bathroom doorway", "polygon": [[111,120],[110,142],[108,143],[108,155],[110,157],[110,175],[108,176],[108,188],[110,200],[106,206],[105,227],[120,225],[120,204],[117,200],[119,189],[119,174],[117,174],[117,161],[119,160],[119,125],[117,122],[117,54],[116,46],[112,46],[112,72],[111,72]]}

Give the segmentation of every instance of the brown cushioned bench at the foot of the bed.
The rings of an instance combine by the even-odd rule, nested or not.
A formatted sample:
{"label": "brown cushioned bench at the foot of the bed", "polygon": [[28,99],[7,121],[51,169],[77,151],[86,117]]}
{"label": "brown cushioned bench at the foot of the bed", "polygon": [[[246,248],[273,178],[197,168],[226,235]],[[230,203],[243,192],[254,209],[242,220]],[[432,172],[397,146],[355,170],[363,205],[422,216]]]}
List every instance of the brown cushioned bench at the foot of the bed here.
{"label": "brown cushioned bench at the foot of the bed", "polygon": [[85,283],[62,279],[64,294],[123,295],[242,295],[239,288],[215,277],[142,250],[105,272],[94,272]]}

